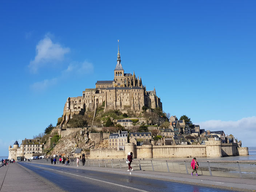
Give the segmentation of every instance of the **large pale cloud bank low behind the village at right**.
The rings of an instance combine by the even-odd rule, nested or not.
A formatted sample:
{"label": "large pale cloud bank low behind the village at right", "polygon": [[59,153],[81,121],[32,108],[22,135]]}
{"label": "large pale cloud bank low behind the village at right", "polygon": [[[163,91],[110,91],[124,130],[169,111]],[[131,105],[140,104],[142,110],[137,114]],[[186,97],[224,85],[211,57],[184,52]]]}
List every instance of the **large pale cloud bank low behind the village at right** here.
{"label": "large pale cloud bank low behind the village at right", "polygon": [[199,124],[200,129],[205,129],[205,131],[224,131],[226,135],[232,134],[242,141],[242,147],[256,146],[256,116],[245,117],[237,121],[209,120],[196,124]]}

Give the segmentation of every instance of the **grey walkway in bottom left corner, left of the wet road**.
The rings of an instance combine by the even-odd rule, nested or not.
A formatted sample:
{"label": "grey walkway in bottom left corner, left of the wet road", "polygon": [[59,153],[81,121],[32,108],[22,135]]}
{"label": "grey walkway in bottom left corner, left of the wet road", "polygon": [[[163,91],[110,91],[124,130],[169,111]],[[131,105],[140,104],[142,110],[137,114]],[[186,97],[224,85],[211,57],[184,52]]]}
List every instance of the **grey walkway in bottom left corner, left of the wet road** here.
{"label": "grey walkway in bottom left corner, left of the wet road", "polygon": [[0,191],[45,192],[58,190],[49,185],[49,183],[39,179],[36,175],[33,175],[33,173],[28,172],[18,163],[8,163],[6,167],[0,167]]}

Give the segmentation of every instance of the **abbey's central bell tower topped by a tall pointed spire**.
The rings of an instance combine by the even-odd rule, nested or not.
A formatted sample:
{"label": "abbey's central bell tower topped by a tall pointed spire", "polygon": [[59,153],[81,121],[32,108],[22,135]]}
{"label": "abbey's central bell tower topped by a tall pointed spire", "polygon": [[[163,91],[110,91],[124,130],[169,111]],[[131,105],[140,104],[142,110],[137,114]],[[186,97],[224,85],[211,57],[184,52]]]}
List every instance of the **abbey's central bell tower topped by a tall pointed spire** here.
{"label": "abbey's central bell tower topped by a tall pointed spire", "polygon": [[115,87],[125,87],[124,85],[124,69],[121,65],[121,57],[119,51],[119,40],[118,40],[118,52],[117,52],[117,64],[114,70]]}

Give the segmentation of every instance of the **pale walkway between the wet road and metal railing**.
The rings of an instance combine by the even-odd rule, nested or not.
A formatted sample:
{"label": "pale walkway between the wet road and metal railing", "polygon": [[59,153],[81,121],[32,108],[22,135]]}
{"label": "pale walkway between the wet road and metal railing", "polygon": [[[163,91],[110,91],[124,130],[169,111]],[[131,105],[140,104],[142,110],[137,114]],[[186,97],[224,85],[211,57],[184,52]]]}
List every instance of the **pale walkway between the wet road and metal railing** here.
{"label": "pale walkway between the wet road and metal railing", "polygon": [[[50,165],[52,167],[58,166],[63,167],[65,165],[51,165],[44,163],[32,163],[32,164],[42,164],[42,165]],[[241,179],[241,178],[233,178],[233,177],[219,177],[219,176],[191,176],[189,174],[183,173],[169,173],[169,172],[157,172],[157,171],[142,171],[142,170],[133,170],[127,171],[127,169],[120,168],[105,168],[105,167],[76,167],[74,165],[70,165],[69,167],[74,169],[88,169],[95,171],[103,171],[103,172],[111,172],[111,173],[119,173],[119,174],[131,174],[134,176],[141,177],[152,177],[157,179],[165,179],[170,181],[177,181],[188,184],[200,184],[207,185],[213,187],[224,187],[226,189],[247,189],[249,191],[256,191],[256,179]]]}

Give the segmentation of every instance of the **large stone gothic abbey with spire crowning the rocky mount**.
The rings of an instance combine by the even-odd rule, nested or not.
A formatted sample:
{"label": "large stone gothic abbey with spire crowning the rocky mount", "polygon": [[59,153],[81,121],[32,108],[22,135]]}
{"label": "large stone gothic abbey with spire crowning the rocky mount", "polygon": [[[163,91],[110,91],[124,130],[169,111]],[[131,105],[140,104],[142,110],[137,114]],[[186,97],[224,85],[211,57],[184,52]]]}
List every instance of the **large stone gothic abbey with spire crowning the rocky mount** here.
{"label": "large stone gothic abbey with spire crowning the rocky mount", "polygon": [[85,111],[95,111],[98,106],[105,106],[104,110],[120,109],[142,111],[142,107],[161,108],[160,98],[156,96],[156,90],[147,91],[142,84],[141,77],[135,73],[124,73],[121,65],[121,57],[117,53],[117,64],[114,70],[114,79],[110,81],[97,81],[95,88],[86,88],[82,96],[68,97],[63,110],[61,127],[72,118],[73,114]]}

